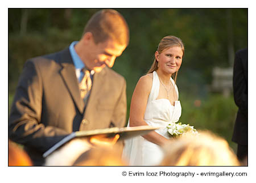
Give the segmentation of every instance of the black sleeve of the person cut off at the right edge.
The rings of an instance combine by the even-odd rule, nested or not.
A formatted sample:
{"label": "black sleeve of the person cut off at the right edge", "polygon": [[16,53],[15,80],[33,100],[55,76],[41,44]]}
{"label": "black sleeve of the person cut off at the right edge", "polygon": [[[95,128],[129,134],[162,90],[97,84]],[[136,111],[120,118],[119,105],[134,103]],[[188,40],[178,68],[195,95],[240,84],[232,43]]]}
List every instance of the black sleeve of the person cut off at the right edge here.
{"label": "black sleeve of the person cut off at the right edge", "polygon": [[233,70],[233,92],[234,92],[234,101],[240,111],[247,115],[248,113],[248,87],[246,80],[246,71],[243,68],[242,62],[246,62],[246,59],[243,59],[240,54],[241,52],[236,53],[234,59],[234,70]]}

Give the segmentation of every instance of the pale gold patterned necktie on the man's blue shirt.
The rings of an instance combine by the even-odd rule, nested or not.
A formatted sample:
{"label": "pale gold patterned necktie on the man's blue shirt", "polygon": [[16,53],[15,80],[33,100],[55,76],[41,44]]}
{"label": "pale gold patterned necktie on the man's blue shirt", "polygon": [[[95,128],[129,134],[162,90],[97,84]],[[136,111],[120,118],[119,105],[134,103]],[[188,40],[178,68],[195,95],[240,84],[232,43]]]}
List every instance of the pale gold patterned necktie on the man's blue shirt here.
{"label": "pale gold patterned necktie on the man's blue shirt", "polygon": [[82,69],[82,73],[84,73],[84,77],[79,83],[79,88],[81,91],[81,98],[86,100],[90,93],[90,88],[92,88],[92,79],[90,78],[90,71]]}

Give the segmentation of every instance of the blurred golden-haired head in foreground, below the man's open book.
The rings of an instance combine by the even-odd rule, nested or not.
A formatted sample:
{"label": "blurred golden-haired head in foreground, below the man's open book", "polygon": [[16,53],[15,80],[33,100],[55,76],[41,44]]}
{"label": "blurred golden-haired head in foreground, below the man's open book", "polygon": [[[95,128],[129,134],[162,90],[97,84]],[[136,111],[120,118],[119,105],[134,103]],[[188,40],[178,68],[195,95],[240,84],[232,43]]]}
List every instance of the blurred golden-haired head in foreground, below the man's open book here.
{"label": "blurred golden-haired head in foreground, below the man's open book", "polygon": [[73,166],[126,166],[115,148],[92,148],[84,152]]}

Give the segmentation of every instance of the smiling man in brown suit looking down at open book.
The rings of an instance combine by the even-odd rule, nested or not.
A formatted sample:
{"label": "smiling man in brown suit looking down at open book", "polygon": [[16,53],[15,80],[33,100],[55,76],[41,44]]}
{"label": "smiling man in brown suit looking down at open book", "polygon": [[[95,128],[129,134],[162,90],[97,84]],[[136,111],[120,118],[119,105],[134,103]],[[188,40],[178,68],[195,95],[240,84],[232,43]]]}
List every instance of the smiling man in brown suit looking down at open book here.
{"label": "smiling man in brown suit looking down at open book", "polygon": [[34,165],[72,131],[123,127],[126,82],[111,68],[129,44],[129,28],[115,10],[101,10],[80,41],[28,59],[9,117],[9,138],[24,145]]}

